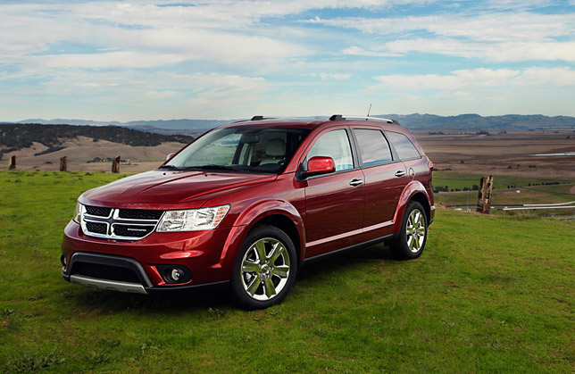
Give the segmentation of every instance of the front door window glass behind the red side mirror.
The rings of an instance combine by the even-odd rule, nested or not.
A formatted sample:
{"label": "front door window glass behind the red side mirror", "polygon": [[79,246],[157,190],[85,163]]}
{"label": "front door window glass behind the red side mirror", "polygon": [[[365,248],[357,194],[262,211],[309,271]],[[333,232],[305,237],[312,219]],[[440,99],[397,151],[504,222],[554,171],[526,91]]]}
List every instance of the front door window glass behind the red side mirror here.
{"label": "front door window glass behind the red side mirror", "polygon": [[354,168],[352,149],[345,129],[323,134],[307,154],[307,160],[315,156],[331,157],[336,163],[336,171]]}

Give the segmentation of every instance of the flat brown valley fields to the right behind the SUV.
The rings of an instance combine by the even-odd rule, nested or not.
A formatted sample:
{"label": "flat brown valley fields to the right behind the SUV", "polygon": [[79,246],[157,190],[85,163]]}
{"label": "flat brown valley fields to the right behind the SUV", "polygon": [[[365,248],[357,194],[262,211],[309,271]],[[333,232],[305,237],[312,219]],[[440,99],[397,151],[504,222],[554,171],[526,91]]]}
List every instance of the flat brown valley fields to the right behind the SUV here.
{"label": "flat brown valley fields to the right behind the SUV", "polygon": [[535,179],[575,179],[575,131],[474,131],[441,130],[443,134],[413,131],[437,171],[491,174]]}

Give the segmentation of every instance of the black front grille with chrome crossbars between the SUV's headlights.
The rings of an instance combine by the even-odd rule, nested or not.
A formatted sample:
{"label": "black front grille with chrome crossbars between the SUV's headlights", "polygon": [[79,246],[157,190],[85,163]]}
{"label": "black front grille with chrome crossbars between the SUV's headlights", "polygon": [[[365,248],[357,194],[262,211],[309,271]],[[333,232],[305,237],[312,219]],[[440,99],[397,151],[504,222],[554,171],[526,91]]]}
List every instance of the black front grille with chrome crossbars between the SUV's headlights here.
{"label": "black front grille with chrome crossbars between the SUV's headlights", "polygon": [[91,237],[137,240],[152,233],[163,211],[85,205],[82,231]]}

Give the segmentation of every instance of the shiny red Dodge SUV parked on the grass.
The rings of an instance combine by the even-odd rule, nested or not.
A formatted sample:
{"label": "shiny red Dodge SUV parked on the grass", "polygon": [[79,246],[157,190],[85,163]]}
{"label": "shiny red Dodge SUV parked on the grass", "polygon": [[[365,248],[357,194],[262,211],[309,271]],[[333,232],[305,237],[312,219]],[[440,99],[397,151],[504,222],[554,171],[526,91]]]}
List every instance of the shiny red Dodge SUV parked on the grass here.
{"label": "shiny red Dodge SUV parked on the grass", "polygon": [[229,285],[243,307],[266,308],[325,254],[385,241],[398,257],[420,256],[432,170],[395,121],[230,123],[157,170],[80,195],[63,278],[141,294]]}

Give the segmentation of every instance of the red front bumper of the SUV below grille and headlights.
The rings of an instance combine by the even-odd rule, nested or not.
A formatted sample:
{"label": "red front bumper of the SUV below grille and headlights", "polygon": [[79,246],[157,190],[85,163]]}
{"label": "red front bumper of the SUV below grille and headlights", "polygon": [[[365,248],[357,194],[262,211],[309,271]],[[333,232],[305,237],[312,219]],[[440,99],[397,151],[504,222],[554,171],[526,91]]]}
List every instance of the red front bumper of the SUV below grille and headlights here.
{"label": "red front bumper of the SUV below grille and headlights", "polygon": [[[189,289],[208,285],[223,285],[231,278],[233,263],[226,254],[235,253],[229,241],[237,228],[205,231],[158,233],[137,241],[120,241],[87,237],[79,224],[71,221],[64,230],[63,256],[66,266],[63,278],[89,287],[148,294],[155,291]],[[229,260],[229,257],[228,257]],[[79,272],[76,264],[105,268],[106,277],[93,270]],[[183,266],[191,272],[186,283],[170,283],[162,278],[162,265]],[[129,272],[125,277],[116,277]]]}

